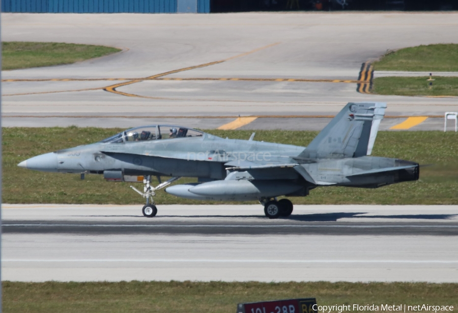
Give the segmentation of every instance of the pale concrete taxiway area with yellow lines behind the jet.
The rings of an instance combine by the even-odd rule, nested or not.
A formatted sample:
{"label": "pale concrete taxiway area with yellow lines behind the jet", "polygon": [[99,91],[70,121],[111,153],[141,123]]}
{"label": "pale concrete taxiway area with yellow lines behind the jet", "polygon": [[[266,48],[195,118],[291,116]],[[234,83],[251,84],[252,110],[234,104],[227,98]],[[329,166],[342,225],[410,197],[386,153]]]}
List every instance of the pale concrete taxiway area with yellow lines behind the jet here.
{"label": "pale concrete taxiway area with yellow lines behind the jet", "polygon": [[361,64],[387,49],[458,42],[457,27],[458,13],[2,13],[4,41],[123,49],[72,65],[4,71],[11,81],[2,83],[2,122],[127,128],[172,120],[215,128],[256,115],[271,116],[257,129],[275,129],[291,128],[275,116],[335,115],[349,101],[387,102],[389,116],[443,116],[457,111],[456,98],[358,93],[355,81]]}

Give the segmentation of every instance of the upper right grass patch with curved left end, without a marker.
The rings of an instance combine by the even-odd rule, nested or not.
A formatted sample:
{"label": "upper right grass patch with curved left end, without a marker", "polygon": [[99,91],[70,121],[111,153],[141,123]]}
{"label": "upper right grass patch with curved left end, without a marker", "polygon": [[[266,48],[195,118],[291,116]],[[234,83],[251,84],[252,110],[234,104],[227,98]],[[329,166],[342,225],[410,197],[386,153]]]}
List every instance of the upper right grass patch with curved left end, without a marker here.
{"label": "upper right grass patch with curved left end, without a marker", "polygon": [[458,44],[430,44],[390,51],[374,62],[377,71],[458,71]]}

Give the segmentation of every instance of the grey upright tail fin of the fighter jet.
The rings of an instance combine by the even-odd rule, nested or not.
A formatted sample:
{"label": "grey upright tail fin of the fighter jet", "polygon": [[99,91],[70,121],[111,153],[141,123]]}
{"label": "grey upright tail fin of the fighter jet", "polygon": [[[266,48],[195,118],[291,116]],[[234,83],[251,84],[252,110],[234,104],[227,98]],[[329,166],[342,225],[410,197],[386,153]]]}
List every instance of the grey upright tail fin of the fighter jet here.
{"label": "grey upright tail fin of the fighter jet", "polygon": [[348,103],[300,156],[310,159],[370,155],[385,115],[386,103]]}

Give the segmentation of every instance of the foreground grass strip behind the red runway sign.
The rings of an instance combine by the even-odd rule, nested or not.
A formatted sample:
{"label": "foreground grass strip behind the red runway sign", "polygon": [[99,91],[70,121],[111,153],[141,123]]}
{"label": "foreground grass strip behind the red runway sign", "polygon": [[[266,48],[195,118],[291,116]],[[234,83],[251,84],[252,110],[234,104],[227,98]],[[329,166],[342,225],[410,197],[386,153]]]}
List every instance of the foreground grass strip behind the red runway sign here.
{"label": "foreground grass strip behind the red runway sign", "polygon": [[379,311],[382,304],[456,310],[456,295],[456,283],[3,282],[3,308],[10,313],[227,313],[236,312],[238,303],[308,297],[319,305],[350,304],[350,312],[358,312],[353,304],[379,305]]}

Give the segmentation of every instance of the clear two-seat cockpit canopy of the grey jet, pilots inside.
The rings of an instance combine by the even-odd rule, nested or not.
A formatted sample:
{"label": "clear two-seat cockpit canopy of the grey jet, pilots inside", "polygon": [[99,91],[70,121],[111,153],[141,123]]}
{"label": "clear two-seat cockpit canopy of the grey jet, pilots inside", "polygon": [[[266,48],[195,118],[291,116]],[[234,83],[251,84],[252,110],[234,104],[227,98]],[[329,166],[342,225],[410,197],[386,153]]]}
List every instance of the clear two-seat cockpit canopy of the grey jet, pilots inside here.
{"label": "clear two-seat cockpit canopy of the grey jet, pilots inside", "polygon": [[192,128],[173,125],[151,125],[127,129],[115,136],[102,140],[103,143],[129,143],[136,141],[199,137],[204,133]]}

